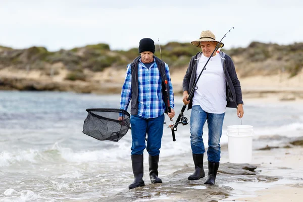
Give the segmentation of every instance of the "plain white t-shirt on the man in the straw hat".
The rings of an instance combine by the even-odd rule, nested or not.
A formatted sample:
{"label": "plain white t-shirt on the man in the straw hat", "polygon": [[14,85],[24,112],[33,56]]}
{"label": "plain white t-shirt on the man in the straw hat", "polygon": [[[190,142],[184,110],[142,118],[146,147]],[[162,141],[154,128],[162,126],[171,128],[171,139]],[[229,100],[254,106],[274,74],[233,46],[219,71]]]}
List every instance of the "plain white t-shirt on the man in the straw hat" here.
{"label": "plain white t-shirt on the man in the straw hat", "polygon": [[[209,58],[203,54],[200,57],[196,78]],[[226,79],[220,55],[212,57],[201,74],[194,91],[192,105],[199,105],[205,112],[222,114],[226,111]]]}

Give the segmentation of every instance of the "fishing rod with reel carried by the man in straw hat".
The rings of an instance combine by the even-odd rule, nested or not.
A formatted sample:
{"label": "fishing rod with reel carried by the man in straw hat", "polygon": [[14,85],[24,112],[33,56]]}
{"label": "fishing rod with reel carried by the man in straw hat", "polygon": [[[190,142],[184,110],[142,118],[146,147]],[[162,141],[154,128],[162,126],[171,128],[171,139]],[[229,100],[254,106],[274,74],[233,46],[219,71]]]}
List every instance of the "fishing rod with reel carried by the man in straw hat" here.
{"label": "fishing rod with reel carried by the man in straw hat", "polygon": [[[231,30],[231,29],[234,29],[234,27],[230,28],[230,30]],[[228,30],[228,32],[230,32],[230,30]],[[228,32],[226,32],[226,34],[227,34]],[[223,38],[226,36],[226,34],[222,37],[222,39],[219,41],[219,43],[217,43],[217,45],[216,45],[216,47],[215,47],[215,49],[214,49],[214,51],[213,51],[211,57],[213,57],[213,54],[215,53],[216,49],[218,48],[218,45],[221,43],[221,41],[222,41]],[[219,49],[216,51],[216,55],[220,52],[221,47],[222,47],[222,45],[221,45],[221,46],[219,47]],[[206,64],[204,65],[203,69],[201,70],[201,72],[200,72],[198,78],[195,80],[195,82],[194,82],[194,84],[193,84],[193,87],[192,87],[192,89],[190,90],[190,93],[189,93],[189,95],[188,95],[188,97],[187,97],[187,101],[191,100],[191,98],[193,97],[194,90],[197,89],[197,86],[196,86],[196,85],[197,85],[197,82],[198,82],[198,80],[199,80],[199,78],[200,78],[202,72],[203,72],[204,70],[206,70],[205,67],[207,66],[207,64],[208,64],[208,62],[210,61],[211,57],[209,57],[209,59],[207,60]],[[174,130],[175,130],[175,131],[177,131],[177,127],[178,127],[178,124],[179,124],[179,123],[181,123],[182,125],[187,125],[187,124],[188,124],[188,122],[187,122],[188,119],[187,119],[186,117],[184,117],[184,114],[183,114],[184,111],[185,111],[185,109],[186,109],[186,106],[187,106],[187,105],[183,105],[183,107],[182,107],[182,109],[181,109],[181,112],[180,112],[180,114],[179,114],[179,116],[178,116],[178,118],[177,118],[177,120],[176,120],[176,123],[175,123],[175,125],[174,125]],[[181,121],[180,121],[180,120],[181,120]]]}

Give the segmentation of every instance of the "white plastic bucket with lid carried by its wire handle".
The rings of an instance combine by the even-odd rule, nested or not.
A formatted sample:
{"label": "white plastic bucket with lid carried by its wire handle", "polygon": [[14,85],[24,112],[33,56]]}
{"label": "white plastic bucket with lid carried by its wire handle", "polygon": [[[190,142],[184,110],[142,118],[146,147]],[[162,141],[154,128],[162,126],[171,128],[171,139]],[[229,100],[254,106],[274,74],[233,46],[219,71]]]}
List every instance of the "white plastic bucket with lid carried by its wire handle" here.
{"label": "white plastic bucket with lid carried by its wire handle", "polygon": [[254,129],[249,125],[227,126],[230,163],[245,164],[251,162],[252,134],[254,134]]}

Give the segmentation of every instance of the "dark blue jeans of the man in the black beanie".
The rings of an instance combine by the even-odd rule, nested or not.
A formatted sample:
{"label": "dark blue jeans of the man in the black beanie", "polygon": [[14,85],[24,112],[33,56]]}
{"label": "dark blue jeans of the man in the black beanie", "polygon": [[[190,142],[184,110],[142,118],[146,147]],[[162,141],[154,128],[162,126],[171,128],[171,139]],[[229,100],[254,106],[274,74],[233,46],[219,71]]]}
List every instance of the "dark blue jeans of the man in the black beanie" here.
{"label": "dark blue jeans of the man in the black beanie", "polygon": [[131,155],[141,155],[145,149],[145,136],[147,133],[146,150],[150,156],[160,154],[161,139],[163,135],[164,114],[157,118],[146,119],[138,115],[131,115]]}

